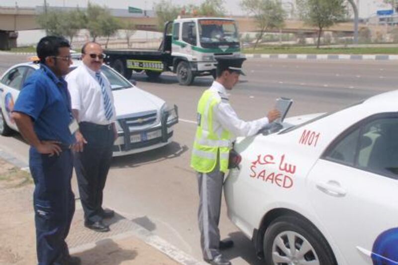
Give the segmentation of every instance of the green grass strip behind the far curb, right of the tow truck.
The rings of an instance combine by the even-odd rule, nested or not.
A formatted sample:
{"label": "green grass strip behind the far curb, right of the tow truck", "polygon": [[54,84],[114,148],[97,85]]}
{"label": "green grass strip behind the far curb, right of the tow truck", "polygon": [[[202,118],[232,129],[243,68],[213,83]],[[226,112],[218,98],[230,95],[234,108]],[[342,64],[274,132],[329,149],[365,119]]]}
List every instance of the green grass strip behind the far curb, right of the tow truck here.
{"label": "green grass strip behind the far curb, right of the tow truck", "polygon": [[243,49],[250,54],[398,54],[398,47],[319,48],[314,47],[259,47]]}

